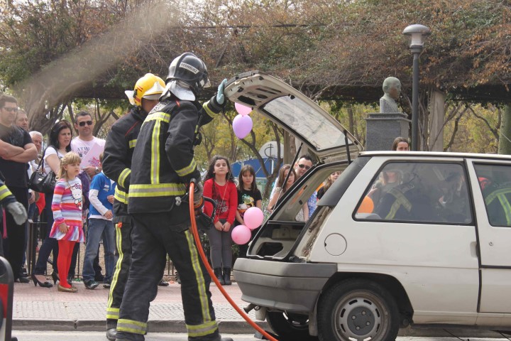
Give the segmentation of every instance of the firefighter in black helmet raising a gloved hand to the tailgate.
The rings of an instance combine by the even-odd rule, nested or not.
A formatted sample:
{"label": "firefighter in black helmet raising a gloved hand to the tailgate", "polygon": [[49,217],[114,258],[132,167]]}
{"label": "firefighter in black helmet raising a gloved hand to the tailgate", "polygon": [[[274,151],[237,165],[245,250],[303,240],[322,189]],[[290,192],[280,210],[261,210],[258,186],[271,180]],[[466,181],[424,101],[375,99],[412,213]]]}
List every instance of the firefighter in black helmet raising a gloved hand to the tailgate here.
{"label": "firefighter in black helmet raising a gloved hand to the tailgate", "polygon": [[[195,132],[199,122],[205,124],[221,111],[225,82],[201,108],[197,96],[209,85],[207,67],[196,55],[183,53],[170,63],[160,103],[145,118],[138,134],[128,193],[133,253],[117,323],[118,341],[144,340],[149,304],[155,298],[167,254],[181,278],[188,340],[231,340],[219,335],[209,291],[211,278],[189,231],[184,198],[189,181],[200,179],[193,151]],[[202,200],[200,183],[194,200]]]}

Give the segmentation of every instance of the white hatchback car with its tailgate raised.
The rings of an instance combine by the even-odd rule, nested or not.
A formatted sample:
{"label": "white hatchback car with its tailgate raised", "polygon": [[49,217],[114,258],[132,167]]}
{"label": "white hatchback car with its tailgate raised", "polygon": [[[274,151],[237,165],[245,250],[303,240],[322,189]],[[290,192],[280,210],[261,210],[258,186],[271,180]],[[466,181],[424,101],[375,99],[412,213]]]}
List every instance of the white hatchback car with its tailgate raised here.
{"label": "white hatchback car with its tailgate raised", "polygon": [[510,156],[362,152],[317,104],[261,72],[230,80],[226,94],[315,158],[233,268],[243,301],[280,340],[394,340],[407,325],[511,330]]}

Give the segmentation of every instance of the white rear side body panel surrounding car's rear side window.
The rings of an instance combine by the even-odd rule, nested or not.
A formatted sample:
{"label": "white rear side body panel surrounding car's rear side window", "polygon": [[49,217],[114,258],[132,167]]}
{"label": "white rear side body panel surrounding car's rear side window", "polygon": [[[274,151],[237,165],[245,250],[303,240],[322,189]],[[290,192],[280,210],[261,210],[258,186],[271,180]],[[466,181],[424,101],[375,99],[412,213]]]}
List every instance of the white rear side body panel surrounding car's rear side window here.
{"label": "white rear side body panel surrounding car's rear side window", "polygon": [[[402,160],[394,158],[394,161]],[[336,263],[339,271],[388,274],[397,278],[412,302],[414,320],[422,313],[426,318],[434,315],[433,312],[449,312],[461,316],[473,313],[471,322],[475,322],[479,290],[475,226],[458,225],[448,229],[444,224],[428,224],[424,228],[425,224],[353,220],[358,204],[353,198],[363,196],[373,175],[386,161],[388,158],[371,158],[358,173],[324,223],[309,261]],[[346,251],[339,256],[332,256],[323,247],[325,239],[335,232],[342,234],[347,244]],[[453,307],[456,309],[452,310]]]}

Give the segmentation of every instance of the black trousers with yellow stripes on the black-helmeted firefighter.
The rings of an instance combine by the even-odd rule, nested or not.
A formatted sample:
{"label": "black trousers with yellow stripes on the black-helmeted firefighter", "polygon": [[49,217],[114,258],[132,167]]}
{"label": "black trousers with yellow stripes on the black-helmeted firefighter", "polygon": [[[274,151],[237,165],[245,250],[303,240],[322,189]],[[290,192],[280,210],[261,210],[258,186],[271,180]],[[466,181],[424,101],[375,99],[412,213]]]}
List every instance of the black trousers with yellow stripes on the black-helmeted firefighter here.
{"label": "black trousers with yellow stripes on the black-helmeted firefighter", "polygon": [[117,323],[117,340],[144,340],[168,254],[180,274],[188,340],[220,340],[209,284],[189,220],[172,224],[171,212],[133,214],[131,267]]}

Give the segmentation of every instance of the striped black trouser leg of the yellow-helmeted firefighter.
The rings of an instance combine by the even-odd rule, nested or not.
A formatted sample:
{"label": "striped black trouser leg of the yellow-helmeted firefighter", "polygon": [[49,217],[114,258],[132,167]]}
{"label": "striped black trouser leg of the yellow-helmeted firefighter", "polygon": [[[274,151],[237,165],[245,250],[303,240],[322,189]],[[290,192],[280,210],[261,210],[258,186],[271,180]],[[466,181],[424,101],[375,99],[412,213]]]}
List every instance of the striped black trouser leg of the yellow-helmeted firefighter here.
{"label": "striped black trouser leg of the yellow-helmeted firefighter", "polygon": [[128,281],[131,266],[131,232],[133,223],[131,217],[114,217],[116,229],[116,267],[112,276],[109,301],[106,304],[106,328],[116,328],[119,320],[119,308]]}

